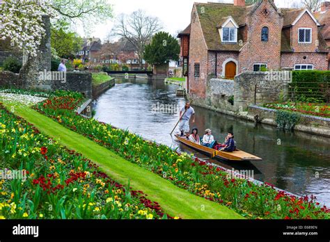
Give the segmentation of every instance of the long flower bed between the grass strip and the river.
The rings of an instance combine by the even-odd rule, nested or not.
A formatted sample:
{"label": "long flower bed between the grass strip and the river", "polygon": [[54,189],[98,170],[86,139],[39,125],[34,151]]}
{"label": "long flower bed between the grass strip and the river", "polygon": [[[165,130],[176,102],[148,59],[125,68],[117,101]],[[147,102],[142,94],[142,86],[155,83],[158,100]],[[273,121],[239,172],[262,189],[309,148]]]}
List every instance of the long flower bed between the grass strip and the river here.
{"label": "long flower bed between the grass strip and the river", "polygon": [[[61,102],[70,102],[61,97]],[[82,97],[79,97],[82,99]],[[75,102],[79,102],[79,99]],[[58,102],[58,99],[56,99]],[[270,184],[257,185],[228,174],[187,154],[178,154],[165,145],[115,129],[109,124],[82,118],[68,109],[56,108],[49,99],[34,108],[65,127],[94,140],[128,161],[157,173],[176,186],[207,200],[224,204],[247,218],[329,218],[330,210],[320,207],[315,197],[294,197],[277,191]]]}

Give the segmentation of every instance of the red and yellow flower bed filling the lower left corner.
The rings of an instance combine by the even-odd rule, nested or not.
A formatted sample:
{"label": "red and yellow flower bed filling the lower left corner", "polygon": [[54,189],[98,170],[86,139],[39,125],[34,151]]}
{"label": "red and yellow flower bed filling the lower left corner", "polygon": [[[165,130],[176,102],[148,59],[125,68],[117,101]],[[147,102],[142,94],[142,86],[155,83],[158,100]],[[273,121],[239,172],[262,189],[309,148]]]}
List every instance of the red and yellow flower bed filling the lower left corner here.
{"label": "red and yellow flower bed filling the lower left corner", "polygon": [[[72,107],[54,102],[56,108]],[[171,218],[146,194],[111,180],[1,104],[0,134],[0,170],[8,169],[6,177],[1,173],[8,179],[0,179],[0,219]],[[21,170],[24,179],[10,179],[12,170]]]}

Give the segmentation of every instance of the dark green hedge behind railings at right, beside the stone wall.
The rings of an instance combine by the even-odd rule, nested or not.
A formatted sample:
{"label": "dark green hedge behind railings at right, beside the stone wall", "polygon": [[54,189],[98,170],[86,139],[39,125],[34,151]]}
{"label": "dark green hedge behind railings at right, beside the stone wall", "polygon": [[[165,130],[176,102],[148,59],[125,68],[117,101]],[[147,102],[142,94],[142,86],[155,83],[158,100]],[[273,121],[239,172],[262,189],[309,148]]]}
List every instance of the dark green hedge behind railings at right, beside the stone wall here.
{"label": "dark green hedge behind railings at right, beside the stone wall", "polygon": [[304,70],[292,72],[291,92],[294,101],[327,102],[329,92],[330,71]]}

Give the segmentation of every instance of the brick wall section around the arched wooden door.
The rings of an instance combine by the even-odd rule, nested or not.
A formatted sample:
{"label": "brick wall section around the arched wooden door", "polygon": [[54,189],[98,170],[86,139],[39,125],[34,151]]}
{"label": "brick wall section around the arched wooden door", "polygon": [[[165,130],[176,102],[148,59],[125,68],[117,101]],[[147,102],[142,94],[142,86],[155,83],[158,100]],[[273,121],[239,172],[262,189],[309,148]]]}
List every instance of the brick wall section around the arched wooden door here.
{"label": "brick wall section around the arched wooden door", "polygon": [[[234,59],[235,61],[238,62],[238,53],[237,52],[217,52],[217,77],[220,78],[223,74],[222,70],[222,64],[229,58]],[[214,75],[215,74],[215,52],[209,51],[208,54],[208,74],[209,75]],[[238,73],[237,73],[238,74]]]}

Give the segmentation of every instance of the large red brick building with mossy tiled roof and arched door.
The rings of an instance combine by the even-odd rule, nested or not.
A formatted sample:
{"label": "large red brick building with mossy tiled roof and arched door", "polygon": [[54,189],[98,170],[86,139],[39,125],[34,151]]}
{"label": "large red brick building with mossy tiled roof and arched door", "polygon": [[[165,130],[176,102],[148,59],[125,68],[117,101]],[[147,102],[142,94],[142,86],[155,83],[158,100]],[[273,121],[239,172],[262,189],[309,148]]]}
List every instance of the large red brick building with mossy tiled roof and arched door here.
{"label": "large red brick building with mossy tiled roof and arched door", "polygon": [[194,3],[191,24],[178,35],[189,92],[205,98],[207,80],[244,71],[327,70],[321,27],[308,9],[278,9],[272,0]]}

